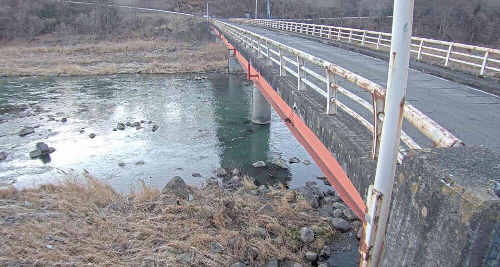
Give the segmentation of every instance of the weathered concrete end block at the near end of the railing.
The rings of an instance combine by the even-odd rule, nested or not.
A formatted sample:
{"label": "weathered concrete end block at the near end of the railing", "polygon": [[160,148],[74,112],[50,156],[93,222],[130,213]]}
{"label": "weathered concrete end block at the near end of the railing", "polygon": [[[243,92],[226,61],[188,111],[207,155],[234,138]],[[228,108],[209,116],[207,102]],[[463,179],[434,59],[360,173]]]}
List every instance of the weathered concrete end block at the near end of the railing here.
{"label": "weathered concrete end block at the near end of the railing", "polygon": [[499,266],[500,156],[410,151],[396,176],[383,266]]}

